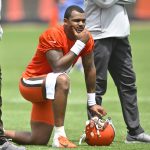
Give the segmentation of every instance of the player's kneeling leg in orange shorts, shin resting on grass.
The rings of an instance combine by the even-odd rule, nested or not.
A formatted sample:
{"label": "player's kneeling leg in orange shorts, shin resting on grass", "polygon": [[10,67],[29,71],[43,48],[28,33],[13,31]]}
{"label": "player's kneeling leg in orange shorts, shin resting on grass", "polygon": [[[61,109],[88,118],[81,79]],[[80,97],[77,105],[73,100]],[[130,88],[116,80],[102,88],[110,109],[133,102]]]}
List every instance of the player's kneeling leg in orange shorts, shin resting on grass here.
{"label": "player's kneeling leg in orange shorts, shin resting on grass", "polygon": [[34,84],[26,84],[22,79],[20,80],[21,94],[32,102],[31,131],[5,131],[6,137],[18,144],[47,145],[49,142],[54,126],[54,117],[52,101],[43,97],[44,82],[39,84],[39,81],[44,81],[44,79],[45,77],[30,79],[30,81],[35,81]]}

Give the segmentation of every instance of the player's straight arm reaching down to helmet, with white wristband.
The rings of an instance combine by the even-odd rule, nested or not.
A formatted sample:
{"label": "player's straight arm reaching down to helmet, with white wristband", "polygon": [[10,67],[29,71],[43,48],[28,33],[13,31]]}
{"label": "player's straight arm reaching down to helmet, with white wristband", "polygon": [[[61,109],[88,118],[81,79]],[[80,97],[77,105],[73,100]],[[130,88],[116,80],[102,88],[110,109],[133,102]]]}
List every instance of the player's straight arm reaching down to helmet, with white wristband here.
{"label": "player's straight arm reaching down to helmet, with white wristband", "polygon": [[97,105],[95,101],[96,69],[93,60],[93,54],[89,53],[88,55],[84,56],[82,58],[82,64],[85,74],[88,106],[96,115],[105,116],[105,109],[102,106]]}

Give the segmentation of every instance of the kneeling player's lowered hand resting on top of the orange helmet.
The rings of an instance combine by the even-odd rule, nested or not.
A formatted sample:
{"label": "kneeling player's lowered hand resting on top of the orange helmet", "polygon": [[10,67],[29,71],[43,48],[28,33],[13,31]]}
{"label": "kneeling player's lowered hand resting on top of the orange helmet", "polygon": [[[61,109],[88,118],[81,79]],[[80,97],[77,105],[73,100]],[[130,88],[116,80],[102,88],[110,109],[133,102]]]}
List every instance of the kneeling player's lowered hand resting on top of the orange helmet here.
{"label": "kneeling player's lowered hand resting on top of the orange helmet", "polygon": [[101,117],[107,115],[105,109],[104,109],[102,106],[97,105],[97,104],[96,104],[96,105],[93,105],[93,106],[90,106],[90,110],[91,110],[95,115],[98,115],[98,116],[101,116]]}

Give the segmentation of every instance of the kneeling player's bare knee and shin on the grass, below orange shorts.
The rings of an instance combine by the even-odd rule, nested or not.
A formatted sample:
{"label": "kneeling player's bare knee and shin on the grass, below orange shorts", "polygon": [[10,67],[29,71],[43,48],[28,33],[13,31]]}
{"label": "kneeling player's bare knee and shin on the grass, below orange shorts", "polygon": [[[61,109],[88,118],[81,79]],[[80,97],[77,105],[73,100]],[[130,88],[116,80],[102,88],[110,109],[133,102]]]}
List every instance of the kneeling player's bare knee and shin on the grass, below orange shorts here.
{"label": "kneeling player's bare knee and shin on the grass, below orange shorts", "polygon": [[18,144],[47,145],[52,130],[53,125],[44,122],[31,121],[31,132],[6,130],[5,135]]}

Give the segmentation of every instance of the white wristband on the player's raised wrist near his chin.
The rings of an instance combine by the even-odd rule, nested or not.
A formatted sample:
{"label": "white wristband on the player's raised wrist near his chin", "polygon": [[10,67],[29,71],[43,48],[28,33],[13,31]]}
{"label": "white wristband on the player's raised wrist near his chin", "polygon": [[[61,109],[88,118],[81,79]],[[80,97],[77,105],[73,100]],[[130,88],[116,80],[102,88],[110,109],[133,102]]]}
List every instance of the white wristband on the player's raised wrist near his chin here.
{"label": "white wristband on the player's raised wrist near his chin", "polygon": [[82,49],[83,49],[84,47],[85,47],[85,44],[84,44],[82,41],[77,40],[77,41],[75,42],[75,44],[72,46],[71,51],[72,51],[73,53],[75,53],[76,55],[79,55],[79,53],[82,51]]}

